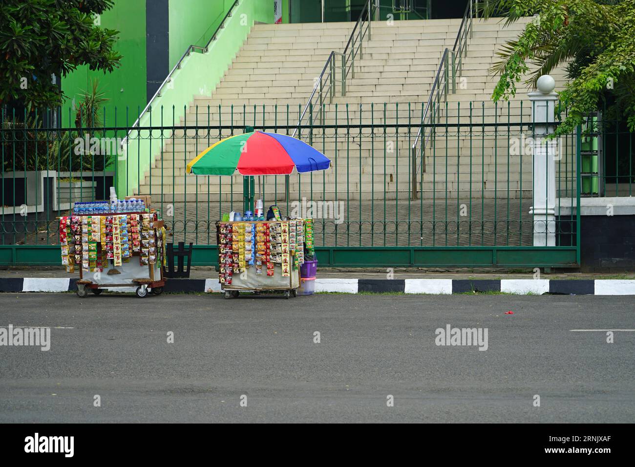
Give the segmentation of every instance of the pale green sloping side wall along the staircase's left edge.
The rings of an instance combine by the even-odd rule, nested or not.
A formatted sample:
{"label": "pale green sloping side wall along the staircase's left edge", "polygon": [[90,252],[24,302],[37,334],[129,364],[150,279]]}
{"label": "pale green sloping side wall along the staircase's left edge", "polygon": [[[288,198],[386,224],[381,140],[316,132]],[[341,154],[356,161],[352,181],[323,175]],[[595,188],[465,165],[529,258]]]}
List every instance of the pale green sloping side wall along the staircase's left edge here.
{"label": "pale green sloping side wall along the staircase's left edge", "polygon": [[[152,112],[142,116],[140,126],[161,125],[161,116],[163,125],[179,125],[194,95],[202,93],[201,88],[210,92],[216,89],[253,24],[271,24],[274,20],[271,0],[241,0],[234,11],[207,53],[192,53],[185,58],[182,68],[173,74],[170,86],[166,86],[161,96],[152,102]],[[138,139],[133,132],[126,155],[117,163],[117,195],[120,198],[134,193],[150,161],[161,150],[161,140],[150,140],[147,135],[147,131],[142,131],[142,139]]]}

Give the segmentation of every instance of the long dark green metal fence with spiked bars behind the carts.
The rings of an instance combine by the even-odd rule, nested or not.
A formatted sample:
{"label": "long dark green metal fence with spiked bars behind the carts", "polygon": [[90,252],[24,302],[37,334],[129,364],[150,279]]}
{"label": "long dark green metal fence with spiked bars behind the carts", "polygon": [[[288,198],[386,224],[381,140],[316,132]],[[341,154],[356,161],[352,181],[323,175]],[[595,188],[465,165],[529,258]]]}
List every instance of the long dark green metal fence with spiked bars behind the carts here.
{"label": "long dark green metal fence with spiked bars behind the carts", "polygon": [[[420,104],[324,104],[321,121],[299,127],[301,105],[190,106],[181,121],[171,117],[174,109],[149,109],[150,126],[142,128],[132,128],[137,115],[129,109],[113,109],[108,120],[106,112],[88,119],[93,125],[69,114],[58,127],[25,127],[24,116],[3,112],[2,245],[57,245],[55,217],[68,213],[73,201],[107,199],[114,185],[119,197],[150,194],[171,239],[199,245],[205,253],[195,264],[213,264],[215,221],[244,210],[250,200],[243,177],[197,177],[185,173],[185,165],[252,126],[297,130],[331,159],[328,171],[255,177],[251,189],[265,208],[276,204],[285,215],[314,217],[322,264],[526,267],[579,261],[581,136],[558,143],[558,215],[543,227],[553,229],[557,243],[534,247],[536,226],[545,222],[530,212],[535,155],[527,148],[535,128],[522,105],[446,102],[433,106],[434,118],[422,124]],[[422,130],[430,135],[429,146],[413,165],[410,148]],[[566,215],[559,215],[565,204]]]}

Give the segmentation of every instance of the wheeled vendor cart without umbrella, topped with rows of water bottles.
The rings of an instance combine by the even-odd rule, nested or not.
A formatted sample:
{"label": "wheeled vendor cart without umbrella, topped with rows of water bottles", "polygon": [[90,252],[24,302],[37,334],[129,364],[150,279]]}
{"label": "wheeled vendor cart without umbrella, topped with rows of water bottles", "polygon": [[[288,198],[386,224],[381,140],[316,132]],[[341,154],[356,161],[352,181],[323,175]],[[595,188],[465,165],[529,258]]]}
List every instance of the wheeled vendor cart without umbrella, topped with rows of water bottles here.
{"label": "wheeled vendor cart without umbrella, topped with rows of water bottles", "polygon": [[75,213],[62,216],[60,247],[67,272],[79,272],[77,296],[133,287],[138,297],[163,292],[165,227],[157,212]]}

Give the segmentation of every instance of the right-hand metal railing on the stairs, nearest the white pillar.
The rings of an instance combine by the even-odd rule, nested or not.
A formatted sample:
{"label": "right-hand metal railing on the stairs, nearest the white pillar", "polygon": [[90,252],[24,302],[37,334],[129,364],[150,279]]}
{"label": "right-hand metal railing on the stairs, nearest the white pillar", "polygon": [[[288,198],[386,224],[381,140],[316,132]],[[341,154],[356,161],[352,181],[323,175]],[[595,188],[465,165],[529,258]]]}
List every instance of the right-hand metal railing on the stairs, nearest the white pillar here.
{"label": "right-hand metal railing on the stairs, nearest the white pillar", "polygon": [[441,102],[442,97],[444,99],[447,97],[448,91],[450,90],[450,83],[452,93],[457,91],[457,77],[462,75],[463,57],[467,56],[468,37],[472,37],[472,34],[474,33],[472,29],[472,22],[474,15],[476,15],[477,3],[478,0],[470,0],[467,6],[465,6],[465,13],[463,15],[463,19],[461,20],[461,25],[458,28],[454,46],[452,47],[452,50],[446,47],[443,51],[443,55],[441,55],[441,62],[439,63],[432,87],[430,88],[430,96],[428,97],[425,109],[421,114],[421,128],[419,129],[415,142],[411,147],[411,173],[413,177],[411,196],[413,200],[416,200],[418,197],[417,174],[422,175],[422,173],[425,172],[425,147],[430,140],[430,132],[425,132],[425,125],[433,123],[432,120],[434,118],[439,119],[441,117],[441,112],[432,112],[432,109],[440,109],[439,103]]}

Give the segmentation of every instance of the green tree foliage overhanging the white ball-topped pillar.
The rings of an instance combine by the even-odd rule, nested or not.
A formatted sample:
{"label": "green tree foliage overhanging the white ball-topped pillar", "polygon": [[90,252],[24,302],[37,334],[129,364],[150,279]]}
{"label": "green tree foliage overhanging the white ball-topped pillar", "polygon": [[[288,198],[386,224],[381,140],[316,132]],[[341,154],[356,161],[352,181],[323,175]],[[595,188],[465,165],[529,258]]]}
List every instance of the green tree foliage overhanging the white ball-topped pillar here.
{"label": "green tree foliage overhanging the white ball-topped pillar", "polygon": [[491,0],[481,7],[485,17],[504,11],[506,25],[535,16],[497,53],[493,100],[514,95],[523,78],[535,88],[541,75],[565,65],[570,82],[558,95],[567,113],[556,135],[598,109],[635,130],[635,0]]}

